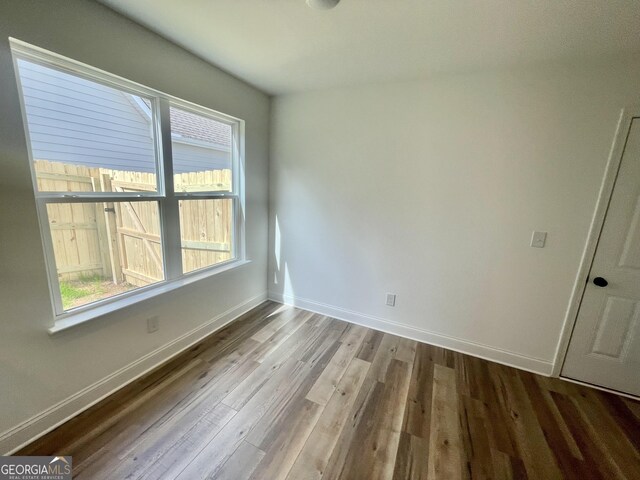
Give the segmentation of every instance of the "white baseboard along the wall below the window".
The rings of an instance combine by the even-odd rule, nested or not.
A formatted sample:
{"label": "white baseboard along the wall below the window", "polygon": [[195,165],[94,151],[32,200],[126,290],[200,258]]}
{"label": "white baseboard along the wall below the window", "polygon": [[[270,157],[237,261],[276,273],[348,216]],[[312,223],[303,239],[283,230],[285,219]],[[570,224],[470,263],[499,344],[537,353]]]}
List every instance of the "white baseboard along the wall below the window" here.
{"label": "white baseboard along the wall below the window", "polygon": [[257,307],[265,300],[267,300],[266,292],[230,308],[205,324],[194,328],[181,337],[144,355],[135,362],[126,365],[93,385],[89,385],[78,393],[67,397],[43,412],[5,431],[0,435],[0,452],[8,452],[4,455],[10,455],[20,450],[42,435],[45,435],[95,405],[105,397],[108,397],[125,385],[135,381],[167,360],[170,360],[172,357],[175,357],[192,345],[198,343],[204,337],[221,329],[240,315]]}

